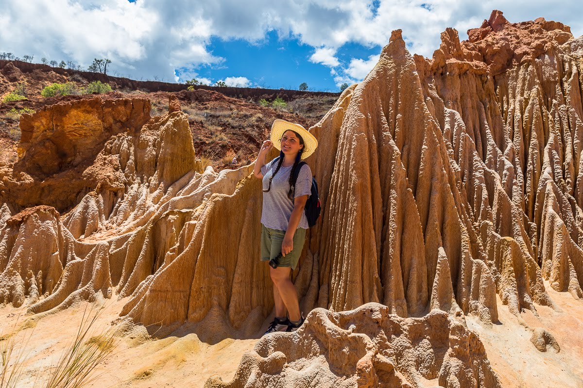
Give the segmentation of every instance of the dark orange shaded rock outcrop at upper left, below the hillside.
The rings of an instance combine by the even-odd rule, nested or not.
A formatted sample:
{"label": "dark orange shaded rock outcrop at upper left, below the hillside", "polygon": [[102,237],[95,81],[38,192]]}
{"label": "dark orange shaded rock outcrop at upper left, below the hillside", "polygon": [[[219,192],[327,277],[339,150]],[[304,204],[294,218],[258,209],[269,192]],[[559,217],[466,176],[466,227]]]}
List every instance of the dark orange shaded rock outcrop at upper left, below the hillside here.
{"label": "dark orange shaded rock outcrop at upper left, below the hillside", "polygon": [[19,167],[39,178],[91,162],[111,136],[150,119],[143,98],[89,97],[45,106],[20,119]]}

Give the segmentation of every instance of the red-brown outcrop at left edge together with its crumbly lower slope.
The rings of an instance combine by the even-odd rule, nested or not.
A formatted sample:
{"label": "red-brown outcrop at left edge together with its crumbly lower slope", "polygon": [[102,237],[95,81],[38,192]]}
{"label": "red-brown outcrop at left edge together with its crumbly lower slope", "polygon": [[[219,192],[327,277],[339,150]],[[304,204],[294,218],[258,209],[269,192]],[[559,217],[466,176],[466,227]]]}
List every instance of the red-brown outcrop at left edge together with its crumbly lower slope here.
{"label": "red-brown outcrop at left edge together with its crumbly lower slope", "polygon": [[14,209],[44,204],[62,212],[97,186],[120,190],[119,162],[111,155],[97,156],[111,137],[135,133],[149,119],[148,99],[115,94],[22,115],[19,160],[0,167],[0,200]]}

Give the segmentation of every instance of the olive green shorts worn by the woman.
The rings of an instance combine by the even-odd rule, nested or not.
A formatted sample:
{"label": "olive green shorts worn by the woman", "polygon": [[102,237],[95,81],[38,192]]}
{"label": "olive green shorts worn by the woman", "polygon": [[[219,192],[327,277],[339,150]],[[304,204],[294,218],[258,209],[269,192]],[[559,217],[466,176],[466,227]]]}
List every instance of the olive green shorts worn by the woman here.
{"label": "olive green shorts worn by the woman", "polygon": [[[285,230],[271,229],[261,224],[261,261],[269,261],[282,252],[283,237]],[[301,251],[304,248],[305,229],[298,227],[293,235],[293,249],[289,254],[279,259],[280,267],[291,267],[296,269],[300,260]]]}

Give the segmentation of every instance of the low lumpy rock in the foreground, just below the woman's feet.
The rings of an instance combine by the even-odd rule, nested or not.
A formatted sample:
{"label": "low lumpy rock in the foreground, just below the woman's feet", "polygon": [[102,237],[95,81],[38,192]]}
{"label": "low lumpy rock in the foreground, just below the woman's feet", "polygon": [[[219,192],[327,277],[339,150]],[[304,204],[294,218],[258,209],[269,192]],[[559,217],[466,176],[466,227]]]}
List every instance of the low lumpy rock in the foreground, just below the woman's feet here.
{"label": "low lumpy rock in the foreground, just below the woman's feet", "polygon": [[368,303],[339,313],[314,309],[297,332],[259,340],[230,383],[211,378],[205,387],[422,388],[434,379],[441,387],[500,387],[463,319],[438,310],[401,318]]}

